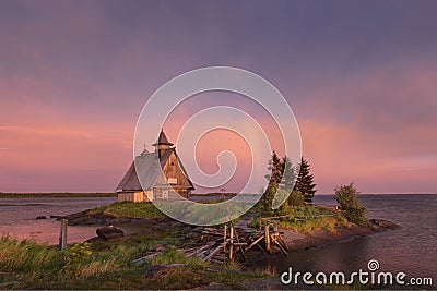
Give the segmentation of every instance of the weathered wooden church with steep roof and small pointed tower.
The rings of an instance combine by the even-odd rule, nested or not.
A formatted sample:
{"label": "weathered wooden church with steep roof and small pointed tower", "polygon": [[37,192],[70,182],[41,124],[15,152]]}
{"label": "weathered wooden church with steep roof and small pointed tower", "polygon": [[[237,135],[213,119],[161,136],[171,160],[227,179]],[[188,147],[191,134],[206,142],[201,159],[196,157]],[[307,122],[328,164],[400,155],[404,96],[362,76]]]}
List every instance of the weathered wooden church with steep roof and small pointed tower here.
{"label": "weathered wooden church with steep roof and small pointed tower", "polygon": [[194,189],[176,154],[176,148],[163,131],[153,146],[155,151],[149,153],[144,149],[121,179],[116,189],[118,202],[169,199],[174,198],[170,196],[175,194],[188,198],[190,191]]}

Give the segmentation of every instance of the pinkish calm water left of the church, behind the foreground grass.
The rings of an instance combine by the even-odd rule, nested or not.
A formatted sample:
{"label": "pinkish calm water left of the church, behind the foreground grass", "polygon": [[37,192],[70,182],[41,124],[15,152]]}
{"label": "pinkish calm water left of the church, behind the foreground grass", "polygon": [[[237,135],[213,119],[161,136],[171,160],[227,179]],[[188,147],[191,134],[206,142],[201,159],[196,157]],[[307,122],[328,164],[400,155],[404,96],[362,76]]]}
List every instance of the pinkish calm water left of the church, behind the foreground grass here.
{"label": "pinkish calm water left of the church, behind the foreground grass", "polygon": [[[0,199],[0,237],[32,239],[44,244],[58,244],[60,222],[37,216],[66,216],[115,202],[104,198],[11,198]],[[68,228],[68,243],[83,242],[95,237],[95,227]]]}

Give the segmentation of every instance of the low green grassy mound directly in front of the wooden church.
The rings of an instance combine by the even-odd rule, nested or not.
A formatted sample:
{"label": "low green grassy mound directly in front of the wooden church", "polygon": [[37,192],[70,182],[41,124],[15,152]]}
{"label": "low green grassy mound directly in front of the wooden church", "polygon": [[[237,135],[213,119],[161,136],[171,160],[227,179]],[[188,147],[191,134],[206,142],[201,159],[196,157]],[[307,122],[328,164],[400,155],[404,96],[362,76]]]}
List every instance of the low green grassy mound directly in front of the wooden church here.
{"label": "low green grassy mound directly in front of the wooden church", "polygon": [[106,214],[126,218],[166,217],[152,203],[116,202],[92,209],[88,214]]}

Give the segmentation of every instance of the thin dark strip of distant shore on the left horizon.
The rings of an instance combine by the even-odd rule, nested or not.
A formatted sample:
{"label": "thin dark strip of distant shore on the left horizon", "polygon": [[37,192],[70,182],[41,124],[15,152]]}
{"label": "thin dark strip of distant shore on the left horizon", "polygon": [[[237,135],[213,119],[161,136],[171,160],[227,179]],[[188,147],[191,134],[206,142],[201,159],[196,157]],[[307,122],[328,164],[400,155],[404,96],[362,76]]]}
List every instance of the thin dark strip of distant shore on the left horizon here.
{"label": "thin dark strip of distant shore on the left horizon", "polygon": [[116,193],[75,193],[75,192],[49,192],[49,193],[3,193],[1,198],[86,198],[86,197],[117,197]]}

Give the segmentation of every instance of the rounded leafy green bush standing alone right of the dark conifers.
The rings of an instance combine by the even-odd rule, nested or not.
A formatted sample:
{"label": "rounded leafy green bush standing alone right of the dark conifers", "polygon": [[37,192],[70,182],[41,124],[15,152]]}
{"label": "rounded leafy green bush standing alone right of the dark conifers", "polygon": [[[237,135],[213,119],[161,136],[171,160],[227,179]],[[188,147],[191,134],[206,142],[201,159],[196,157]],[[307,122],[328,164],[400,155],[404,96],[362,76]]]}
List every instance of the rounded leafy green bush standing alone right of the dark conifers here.
{"label": "rounded leafy green bush standing alone right of the dark conifers", "polygon": [[352,223],[365,226],[367,223],[367,219],[364,216],[366,208],[359,205],[359,192],[355,189],[354,184],[340,185],[334,191],[335,201],[339,203],[344,217]]}

